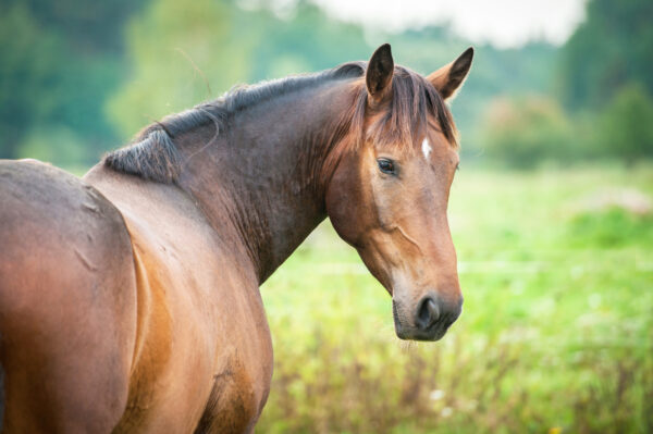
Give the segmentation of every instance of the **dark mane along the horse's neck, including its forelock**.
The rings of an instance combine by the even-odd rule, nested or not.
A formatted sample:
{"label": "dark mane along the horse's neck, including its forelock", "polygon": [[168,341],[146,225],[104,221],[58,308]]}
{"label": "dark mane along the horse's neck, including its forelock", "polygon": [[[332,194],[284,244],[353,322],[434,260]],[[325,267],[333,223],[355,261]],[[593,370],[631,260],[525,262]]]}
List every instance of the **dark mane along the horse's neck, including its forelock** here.
{"label": "dark mane along the horse's neck, including its forelock", "polygon": [[[238,86],[214,101],[155,122],[128,146],[108,153],[102,162],[118,172],[159,183],[174,183],[183,166],[181,153],[174,144],[175,137],[208,124],[214,124],[217,133],[225,131],[230,119],[252,106],[328,82],[361,77],[366,67],[366,62],[350,62],[315,74]],[[367,91],[365,80],[361,80],[352,115],[344,116],[346,127],[338,125],[336,129],[356,128],[357,141],[362,140],[366,106]],[[457,146],[453,117],[435,88],[419,74],[395,66],[393,99],[385,115],[369,128],[368,137],[381,144],[412,144],[414,137],[426,128],[429,113],[439,121],[449,142]]]}

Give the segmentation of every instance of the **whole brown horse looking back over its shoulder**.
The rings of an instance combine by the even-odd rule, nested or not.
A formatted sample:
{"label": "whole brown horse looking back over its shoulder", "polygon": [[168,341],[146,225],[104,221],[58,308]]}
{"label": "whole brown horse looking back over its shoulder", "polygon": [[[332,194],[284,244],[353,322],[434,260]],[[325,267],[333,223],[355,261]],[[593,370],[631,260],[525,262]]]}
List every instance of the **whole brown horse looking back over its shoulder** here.
{"label": "whole brown horse looking back over its shoulder", "polygon": [[245,87],[83,179],[0,162],[4,432],[252,432],[272,376],[259,286],[326,215],[391,294],[397,335],[441,338],[463,302],[444,100],[471,58],[424,78],[384,45]]}

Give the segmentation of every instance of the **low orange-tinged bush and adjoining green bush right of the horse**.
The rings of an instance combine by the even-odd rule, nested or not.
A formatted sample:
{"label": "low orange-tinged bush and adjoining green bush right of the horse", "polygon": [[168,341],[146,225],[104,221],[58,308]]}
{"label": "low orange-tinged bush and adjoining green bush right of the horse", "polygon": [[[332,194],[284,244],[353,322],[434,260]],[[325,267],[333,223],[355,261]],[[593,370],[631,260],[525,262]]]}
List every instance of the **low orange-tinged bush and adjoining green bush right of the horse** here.
{"label": "low orange-tinged bush and adjoining green bush right of the horse", "polygon": [[481,144],[491,161],[532,169],[580,160],[653,158],[653,99],[638,84],[621,87],[603,110],[567,112],[546,97],[496,98],[485,110]]}

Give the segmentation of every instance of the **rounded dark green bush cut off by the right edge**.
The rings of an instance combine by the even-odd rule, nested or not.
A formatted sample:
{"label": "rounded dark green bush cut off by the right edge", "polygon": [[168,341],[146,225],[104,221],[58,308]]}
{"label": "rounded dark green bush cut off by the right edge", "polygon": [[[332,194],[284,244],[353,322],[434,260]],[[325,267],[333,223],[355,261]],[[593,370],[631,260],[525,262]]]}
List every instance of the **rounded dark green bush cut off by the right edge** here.
{"label": "rounded dark green bush cut off by the right edge", "polygon": [[629,164],[653,158],[653,99],[642,85],[621,87],[596,124],[599,142],[606,154]]}

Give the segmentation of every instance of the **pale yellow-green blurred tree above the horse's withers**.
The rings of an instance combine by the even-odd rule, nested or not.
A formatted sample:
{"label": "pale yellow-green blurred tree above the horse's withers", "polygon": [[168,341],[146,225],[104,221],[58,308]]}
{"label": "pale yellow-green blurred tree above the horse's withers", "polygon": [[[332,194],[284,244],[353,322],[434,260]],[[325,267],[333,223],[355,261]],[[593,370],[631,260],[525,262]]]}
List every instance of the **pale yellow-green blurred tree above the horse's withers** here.
{"label": "pale yellow-green blurred tree above the horse's withers", "polygon": [[107,106],[123,137],[244,82],[255,62],[251,24],[229,1],[150,2],[128,25],[132,73]]}

